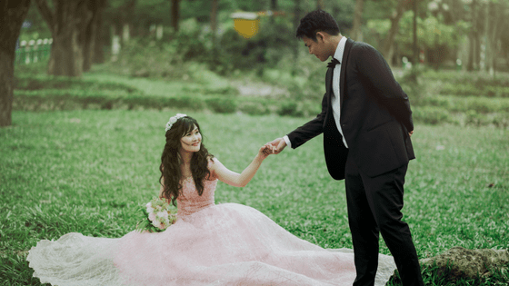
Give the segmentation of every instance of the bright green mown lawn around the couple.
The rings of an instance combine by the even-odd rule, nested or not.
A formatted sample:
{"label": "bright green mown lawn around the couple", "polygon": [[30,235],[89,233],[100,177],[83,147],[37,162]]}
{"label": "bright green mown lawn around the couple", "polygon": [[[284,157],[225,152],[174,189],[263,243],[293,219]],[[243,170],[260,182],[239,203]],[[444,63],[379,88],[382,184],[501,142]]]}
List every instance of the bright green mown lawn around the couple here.
{"label": "bright green mown lawn around the couple", "polygon": [[[164,126],[176,112],[13,113],[14,125],[0,129],[0,285],[39,285],[25,261],[39,240],[134,230],[137,206],[158,193]],[[201,123],[209,151],[236,172],[261,145],[308,120],[187,113]],[[509,131],[418,124],[413,139],[404,220],[419,257],[453,246],[509,249]],[[220,182],[215,199],[250,205],[322,247],[352,247],[344,182],[329,177],[321,136],[267,158],[245,188]],[[507,271],[497,277],[509,282]]]}

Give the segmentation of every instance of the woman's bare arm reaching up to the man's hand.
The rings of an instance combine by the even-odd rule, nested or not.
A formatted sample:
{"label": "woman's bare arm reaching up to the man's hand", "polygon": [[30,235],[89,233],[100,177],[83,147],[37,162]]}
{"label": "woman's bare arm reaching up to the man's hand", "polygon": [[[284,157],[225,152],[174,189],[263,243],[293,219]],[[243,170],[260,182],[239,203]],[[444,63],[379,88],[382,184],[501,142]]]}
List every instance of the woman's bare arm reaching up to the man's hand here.
{"label": "woman's bare arm reaching up to the man's hand", "polygon": [[262,146],[256,154],[255,159],[253,159],[253,162],[251,162],[242,173],[235,173],[229,170],[216,158],[212,159],[214,163],[211,166],[211,171],[215,173],[215,177],[217,177],[217,179],[221,182],[225,182],[235,187],[245,187],[245,185],[253,179],[264,159],[270,153],[274,153],[274,149],[275,147],[269,143]]}

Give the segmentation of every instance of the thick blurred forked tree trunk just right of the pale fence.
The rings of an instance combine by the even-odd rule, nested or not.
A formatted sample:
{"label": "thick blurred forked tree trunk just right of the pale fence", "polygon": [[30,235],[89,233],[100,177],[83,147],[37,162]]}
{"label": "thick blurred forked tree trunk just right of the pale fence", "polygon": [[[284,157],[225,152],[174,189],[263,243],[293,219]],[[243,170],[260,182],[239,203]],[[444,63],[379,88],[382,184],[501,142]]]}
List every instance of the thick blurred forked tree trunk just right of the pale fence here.
{"label": "thick blurred forked tree trunk just right of the pale fence", "polygon": [[54,0],[55,11],[52,11],[45,0],[35,0],[53,36],[48,74],[83,74],[83,33],[92,19],[92,13],[88,10],[90,1],[92,0]]}

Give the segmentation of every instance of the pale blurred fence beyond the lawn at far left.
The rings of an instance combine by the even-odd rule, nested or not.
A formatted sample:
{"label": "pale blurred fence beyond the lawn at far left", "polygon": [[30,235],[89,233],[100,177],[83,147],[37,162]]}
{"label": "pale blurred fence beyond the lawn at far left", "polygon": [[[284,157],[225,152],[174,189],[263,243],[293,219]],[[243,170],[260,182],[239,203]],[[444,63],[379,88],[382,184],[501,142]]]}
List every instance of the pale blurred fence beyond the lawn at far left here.
{"label": "pale blurred fence beyond the lawn at far left", "polygon": [[51,54],[53,39],[21,41],[16,47],[15,64],[31,64],[45,61]]}

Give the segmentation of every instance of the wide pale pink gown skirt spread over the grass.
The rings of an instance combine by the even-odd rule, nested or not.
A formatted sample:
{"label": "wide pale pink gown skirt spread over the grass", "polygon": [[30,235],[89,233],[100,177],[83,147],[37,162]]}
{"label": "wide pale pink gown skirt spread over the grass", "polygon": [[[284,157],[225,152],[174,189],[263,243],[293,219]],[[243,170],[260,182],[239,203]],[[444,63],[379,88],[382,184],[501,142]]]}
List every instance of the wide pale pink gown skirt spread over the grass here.
{"label": "wide pale pink gown skirt spread over the grass", "polygon": [[[179,218],[165,232],[119,239],[68,233],[38,242],[34,276],[54,285],[352,285],[354,254],[295,237],[251,207],[225,203]],[[377,285],[395,269],[380,255]]]}

